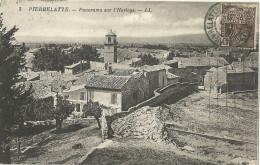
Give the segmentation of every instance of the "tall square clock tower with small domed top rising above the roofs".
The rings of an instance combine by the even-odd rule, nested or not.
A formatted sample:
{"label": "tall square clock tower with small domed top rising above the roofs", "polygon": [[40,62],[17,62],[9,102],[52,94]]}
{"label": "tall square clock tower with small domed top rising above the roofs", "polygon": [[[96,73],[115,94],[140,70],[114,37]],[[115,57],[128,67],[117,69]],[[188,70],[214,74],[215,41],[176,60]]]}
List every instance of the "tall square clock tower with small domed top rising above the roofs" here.
{"label": "tall square clock tower with small domed top rising above the roofs", "polygon": [[105,63],[117,63],[117,41],[116,34],[110,32],[106,35],[106,42],[104,44],[105,52],[104,52],[104,62]]}

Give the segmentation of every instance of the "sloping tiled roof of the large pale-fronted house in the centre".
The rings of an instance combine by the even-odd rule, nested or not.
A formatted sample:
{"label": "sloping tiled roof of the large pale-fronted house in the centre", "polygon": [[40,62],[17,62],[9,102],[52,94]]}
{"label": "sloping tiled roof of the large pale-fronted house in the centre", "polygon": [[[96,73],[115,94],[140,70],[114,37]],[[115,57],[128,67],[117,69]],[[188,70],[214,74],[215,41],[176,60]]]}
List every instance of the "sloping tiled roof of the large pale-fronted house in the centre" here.
{"label": "sloping tiled roof of the large pale-fronted house in the centre", "polygon": [[98,88],[108,90],[120,90],[124,87],[130,76],[95,76],[93,79],[87,82],[86,88]]}

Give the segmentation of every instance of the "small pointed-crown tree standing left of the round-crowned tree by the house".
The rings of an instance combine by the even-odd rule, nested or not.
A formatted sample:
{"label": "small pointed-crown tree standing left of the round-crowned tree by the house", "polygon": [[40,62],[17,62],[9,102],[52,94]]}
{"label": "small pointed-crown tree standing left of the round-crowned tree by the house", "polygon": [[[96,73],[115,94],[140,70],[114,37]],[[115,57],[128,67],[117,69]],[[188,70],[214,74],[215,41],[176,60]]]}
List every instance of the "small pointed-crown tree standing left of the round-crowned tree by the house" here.
{"label": "small pointed-crown tree standing left of the round-crowned tree by the house", "polygon": [[53,118],[56,120],[56,129],[61,130],[63,120],[69,117],[75,106],[62,96],[57,95],[57,105],[53,110]]}

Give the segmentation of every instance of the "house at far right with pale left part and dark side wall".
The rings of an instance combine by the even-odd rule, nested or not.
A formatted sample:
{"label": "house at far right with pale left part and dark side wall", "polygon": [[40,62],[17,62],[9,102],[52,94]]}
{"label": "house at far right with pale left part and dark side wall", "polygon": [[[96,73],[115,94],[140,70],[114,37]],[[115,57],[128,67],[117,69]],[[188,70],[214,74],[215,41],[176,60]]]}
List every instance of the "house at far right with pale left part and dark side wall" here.
{"label": "house at far right with pale left part and dark side wall", "polygon": [[204,78],[205,90],[214,93],[257,89],[256,72],[250,68],[211,68]]}

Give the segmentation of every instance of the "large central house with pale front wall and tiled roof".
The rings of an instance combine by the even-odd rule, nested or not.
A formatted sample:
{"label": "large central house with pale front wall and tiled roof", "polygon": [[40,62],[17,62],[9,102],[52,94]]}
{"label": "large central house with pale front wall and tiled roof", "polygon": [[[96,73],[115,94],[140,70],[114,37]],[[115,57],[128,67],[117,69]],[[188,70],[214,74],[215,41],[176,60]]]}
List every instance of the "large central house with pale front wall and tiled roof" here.
{"label": "large central house with pale front wall and tiled roof", "polygon": [[126,111],[148,98],[145,80],[134,76],[95,76],[85,85],[87,100],[98,101],[117,112]]}

